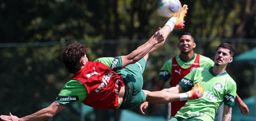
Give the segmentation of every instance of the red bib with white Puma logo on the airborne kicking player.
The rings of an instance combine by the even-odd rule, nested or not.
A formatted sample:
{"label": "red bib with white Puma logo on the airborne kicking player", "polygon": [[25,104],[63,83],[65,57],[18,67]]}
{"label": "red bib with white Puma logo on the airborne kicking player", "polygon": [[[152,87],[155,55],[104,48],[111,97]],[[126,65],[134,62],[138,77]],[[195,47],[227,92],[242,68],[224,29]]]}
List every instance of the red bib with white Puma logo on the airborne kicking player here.
{"label": "red bib with white Puma logo on the airborne kicking player", "polygon": [[116,109],[119,107],[118,94],[124,86],[123,78],[106,64],[88,61],[84,68],[76,72],[72,79],[84,83],[88,95],[83,103],[97,109]]}

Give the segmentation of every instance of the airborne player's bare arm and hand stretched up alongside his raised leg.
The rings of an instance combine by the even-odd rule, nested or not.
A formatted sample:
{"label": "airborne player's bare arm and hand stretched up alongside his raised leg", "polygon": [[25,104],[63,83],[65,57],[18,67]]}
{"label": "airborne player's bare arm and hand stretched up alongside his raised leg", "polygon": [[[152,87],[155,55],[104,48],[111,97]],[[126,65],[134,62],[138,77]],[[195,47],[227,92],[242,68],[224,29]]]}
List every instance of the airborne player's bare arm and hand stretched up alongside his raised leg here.
{"label": "airborne player's bare arm and hand stretched up alongside his raised leg", "polygon": [[165,35],[161,28],[158,29],[157,32],[153,35],[152,38],[142,46],[138,47],[136,50],[131,52],[130,54],[122,57],[122,68],[126,67],[129,64],[134,64],[143,58],[148,52],[158,43],[164,41]]}

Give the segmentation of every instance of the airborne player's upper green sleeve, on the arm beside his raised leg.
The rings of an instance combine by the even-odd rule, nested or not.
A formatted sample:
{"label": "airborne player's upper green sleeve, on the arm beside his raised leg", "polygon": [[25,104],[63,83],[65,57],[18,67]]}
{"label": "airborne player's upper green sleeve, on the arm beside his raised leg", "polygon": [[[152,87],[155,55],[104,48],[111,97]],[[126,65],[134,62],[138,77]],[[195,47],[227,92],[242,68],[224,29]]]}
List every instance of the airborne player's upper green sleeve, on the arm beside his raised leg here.
{"label": "airborne player's upper green sleeve, on the arm beside his raised leg", "polygon": [[98,58],[95,61],[101,62],[103,64],[106,64],[109,69],[115,71],[122,68],[122,58],[121,56],[118,57],[101,57]]}

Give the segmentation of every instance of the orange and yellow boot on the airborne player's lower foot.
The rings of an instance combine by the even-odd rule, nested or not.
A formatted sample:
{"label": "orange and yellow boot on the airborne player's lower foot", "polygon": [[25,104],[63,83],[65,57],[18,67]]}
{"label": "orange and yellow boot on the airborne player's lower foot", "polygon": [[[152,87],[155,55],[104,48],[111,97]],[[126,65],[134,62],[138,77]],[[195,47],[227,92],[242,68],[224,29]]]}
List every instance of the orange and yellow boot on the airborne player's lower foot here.
{"label": "orange and yellow boot on the airborne player's lower foot", "polygon": [[190,90],[190,96],[188,97],[188,100],[195,100],[202,96],[202,93],[204,92],[204,87],[201,85],[201,83],[197,83],[192,90]]}

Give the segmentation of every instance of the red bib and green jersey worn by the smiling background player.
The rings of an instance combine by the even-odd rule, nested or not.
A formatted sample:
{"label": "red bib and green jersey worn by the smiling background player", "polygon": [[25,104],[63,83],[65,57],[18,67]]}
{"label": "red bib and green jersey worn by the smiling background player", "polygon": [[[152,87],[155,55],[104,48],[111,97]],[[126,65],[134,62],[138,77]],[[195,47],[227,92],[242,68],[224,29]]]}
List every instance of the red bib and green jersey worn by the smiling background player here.
{"label": "red bib and green jersey worn by the smiling background player", "polygon": [[[194,56],[188,61],[183,60],[180,55],[178,55],[165,62],[160,71],[159,79],[167,81],[172,76],[170,85],[171,87],[175,87],[183,77],[197,67],[212,67],[213,64],[214,62],[210,58],[199,54],[194,53]],[[175,116],[177,111],[179,111],[186,102],[187,100],[172,102],[171,116]]]}

